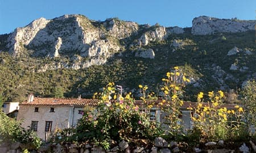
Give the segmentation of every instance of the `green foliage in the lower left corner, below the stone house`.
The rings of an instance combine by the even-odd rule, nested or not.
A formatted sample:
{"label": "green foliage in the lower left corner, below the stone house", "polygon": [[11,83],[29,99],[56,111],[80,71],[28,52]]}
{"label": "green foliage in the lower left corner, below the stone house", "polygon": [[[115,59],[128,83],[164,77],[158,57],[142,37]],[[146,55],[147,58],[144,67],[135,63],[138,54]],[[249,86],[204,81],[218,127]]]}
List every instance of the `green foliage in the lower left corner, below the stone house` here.
{"label": "green foliage in the lower left corner, below the stone house", "polygon": [[0,142],[20,142],[30,148],[39,148],[41,140],[30,130],[25,130],[13,118],[7,117],[0,112]]}

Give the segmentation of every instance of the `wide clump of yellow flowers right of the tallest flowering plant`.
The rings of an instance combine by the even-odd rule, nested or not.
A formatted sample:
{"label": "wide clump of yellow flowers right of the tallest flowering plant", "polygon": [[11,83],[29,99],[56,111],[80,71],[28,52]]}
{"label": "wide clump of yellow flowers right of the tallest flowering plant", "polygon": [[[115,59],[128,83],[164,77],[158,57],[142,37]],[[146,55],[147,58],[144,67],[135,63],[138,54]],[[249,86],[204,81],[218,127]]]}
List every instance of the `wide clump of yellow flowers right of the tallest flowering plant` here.
{"label": "wide clump of yellow flowers right of the tallest flowering plant", "polygon": [[231,110],[223,107],[224,93],[221,90],[217,93],[208,92],[208,97],[209,101],[203,102],[204,93],[200,92],[197,95],[197,106],[188,108],[193,111],[192,133],[197,131],[201,142],[244,136],[246,130],[243,122],[243,108],[238,105]]}

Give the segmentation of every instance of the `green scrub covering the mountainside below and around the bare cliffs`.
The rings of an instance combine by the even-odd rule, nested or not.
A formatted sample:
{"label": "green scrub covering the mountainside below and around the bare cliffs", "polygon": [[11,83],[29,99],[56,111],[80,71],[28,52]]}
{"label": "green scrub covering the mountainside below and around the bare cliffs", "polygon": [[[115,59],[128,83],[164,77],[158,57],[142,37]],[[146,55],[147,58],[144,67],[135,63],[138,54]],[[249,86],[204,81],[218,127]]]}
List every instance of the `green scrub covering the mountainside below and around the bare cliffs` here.
{"label": "green scrub covering the mountainside below and around the bare cliffs", "polygon": [[[102,86],[114,81],[124,86],[125,92],[131,91],[141,82],[151,84],[150,90],[159,94],[161,78],[171,67],[179,65],[191,79],[191,84],[185,88],[185,100],[196,101],[193,95],[200,90],[222,88],[226,93],[230,89],[236,92],[241,88],[243,81],[254,77],[255,31],[196,36],[191,35],[190,30],[187,28],[184,34],[172,34],[166,40],[144,46],[154,49],[155,59],[134,57],[133,48],[128,47],[122,52],[122,56],[117,53],[104,65],[93,65],[79,70],[46,69],[45,72],[42,69],[47,64],[72,64],[74,55],[53,59],[29,55],[14,57],[5,52],[7,35],[1,35],[0,92],[4,101],[23,101],[28,93],[34,93],[36,96],[54,96],[55,86],[59,86],[65,97],[77,97],[79,94],[82,97],[92,97]],[[175,51],[174,47],[171,47],[174,39],[183,42],[183,46],[175,48]],[[120,44],[124,44],[123,41],[131,43],[133,38],[129,41],[120,40]],[[253,54],[239,52],[237,55],[227,56],[228,51],[234,47],[248,49]],[[242,72],[239,69],[232,71],[229,69],[232,64],[248,69]],[[218,72],[214,70],[217,66],[225,71],[223,75],[218,76]],[[136,94],[138,91],[134,93],[135,96]]]}

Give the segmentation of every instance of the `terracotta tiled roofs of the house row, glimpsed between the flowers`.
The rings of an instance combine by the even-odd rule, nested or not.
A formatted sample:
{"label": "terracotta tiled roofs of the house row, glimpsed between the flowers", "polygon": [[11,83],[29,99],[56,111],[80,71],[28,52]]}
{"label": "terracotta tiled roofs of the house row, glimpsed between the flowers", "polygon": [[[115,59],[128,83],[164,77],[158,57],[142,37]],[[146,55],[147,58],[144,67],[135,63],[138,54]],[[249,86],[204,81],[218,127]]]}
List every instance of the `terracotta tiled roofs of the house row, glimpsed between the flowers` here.
{"label": "terracotta tiled roofs of the house row, glimpsed between the flowers", "polygon": [[[157,105],[158,102],[161,100],[150,100],[147,101],[148,104],[153,104]],[[40,97],[35,97],[32,102],[22,102],[20,105],[75,105],[75,106],[97,106],[99,100],[95,99],[84,99],[81,98],[80,100],[78,98],[40,98]],[[115,100],[111,101],[112,103],[116,102]],[[135,100],[134,101],[135,105],[142,105],[141,100]],[[192,107],[196,107],[196,102],[188,102],[184,101],[184,104],[181,106],[181,109],[187,109],[189,105]],[[208,103],[204,102],[204,106],[208,106]],[[234,104],[224,104],[221,107],[227,107],[228,109],[233,109]]]}

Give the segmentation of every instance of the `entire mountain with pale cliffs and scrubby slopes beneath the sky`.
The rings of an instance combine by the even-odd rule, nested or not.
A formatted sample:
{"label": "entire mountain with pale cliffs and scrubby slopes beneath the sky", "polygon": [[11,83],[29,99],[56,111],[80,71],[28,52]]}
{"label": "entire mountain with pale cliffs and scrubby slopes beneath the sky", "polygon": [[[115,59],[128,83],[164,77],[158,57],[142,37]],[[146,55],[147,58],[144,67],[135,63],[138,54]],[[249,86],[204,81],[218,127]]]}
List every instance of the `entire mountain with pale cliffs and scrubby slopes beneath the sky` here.
{"label": "entire mountain with pale cliffs and scrubby slopes beneath the sky", "polygon": [[40,18],[0,35],[0,92],[20,101],[28,92],[52,96],[61,86],[67,97],[90,97],[111,81],[135,96],[138,84],[160,94],[161,78],[175,65],[192,80],[185,98],[237,90],[256,78],[255,23],[200,16],[192,28],[179,28],[83,15]]}

